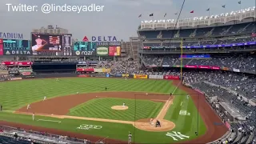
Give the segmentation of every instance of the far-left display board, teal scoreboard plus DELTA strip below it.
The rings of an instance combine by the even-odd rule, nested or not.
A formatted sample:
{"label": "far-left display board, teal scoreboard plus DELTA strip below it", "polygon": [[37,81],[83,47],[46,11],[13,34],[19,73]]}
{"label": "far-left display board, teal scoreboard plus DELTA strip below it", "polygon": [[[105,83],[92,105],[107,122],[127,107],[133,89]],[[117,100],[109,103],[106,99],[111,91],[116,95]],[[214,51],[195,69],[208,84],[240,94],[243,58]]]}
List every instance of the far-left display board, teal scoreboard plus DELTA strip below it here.
{"label": "far-left display board, teal scoreboard plus DELTA strip below it", "polygon": [[2,39],[4,55],[30,55],[30,41],[22,39]]}

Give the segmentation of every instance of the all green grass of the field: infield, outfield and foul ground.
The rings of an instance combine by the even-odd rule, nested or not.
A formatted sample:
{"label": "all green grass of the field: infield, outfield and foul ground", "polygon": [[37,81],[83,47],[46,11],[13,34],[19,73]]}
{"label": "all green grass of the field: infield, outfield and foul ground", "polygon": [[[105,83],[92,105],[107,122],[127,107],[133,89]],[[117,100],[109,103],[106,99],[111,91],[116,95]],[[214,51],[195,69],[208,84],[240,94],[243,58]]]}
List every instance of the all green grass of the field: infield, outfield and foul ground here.
{"label": "all green grass of the field: infield, outfield and foul ground", "polygon": [[[17,110],[22,106],[26,106],[32,102],[42,101],[42,98],[46,96],[47,98],[54,98],[63,95],[76,94],[76,92],[81,93],[90,93],[90,92],[104,92],[105,87],[109,88],[108,91],[140,91],[148,93],[162,93],[170,94],[174,92],[175,86],[171,85],[171,81],[165,80],[150,80],[150,79],[128,79],[124,80],[122,78],[58,78],[59,81],[53,79],[34,79],[26,81],[13,81],[13,82],[0,82],[0,104],[3,106],[4,110]],[[49,119],[55,121],[62,121],[60,124],[55,122],[42,122],[42,121],[32,121],[30,115],[22,114],[10,114],[6,112],[0,113],[0,120],[9,121],[9,122],[19,122],[22,124],[32,125],[32,126],[42,126],[47,128],[54,128],[57,130],[66,130],[72,131],[81,134],[92,134],[95,136],[106,137],[119,139],[126,141],[128,132],[134,134],[135,142],[143,143],[170,143],[170,142],[182,142],[188,139],[197,138],[194,132],[199,127],[199,135],[206,132],[206,126],[202,122],[201,116],[197,115],[197,108],[194,105],[194,102],[190,99],[186,99],[186,93],[182,90],[176,90],[174,94],[181,94],[181,96],[176,96],[174,98],[174,105],[170,106],[170,109],[167,111],[165,119],[170,120],[176,124],[174,130],[168,131],[177,131],[182,134],[190,136],[190,138],[185,138],[183,140],[174,141],[173,138],[167,137],[167,132],[147,132],[143,130],[138,130],[132,125],[127,124],[118,124],[111,122],[94,122],[86,120],[76,120],[76,119],[58,119],[58,118],[47,118],[36,116],[36,118]],[[183,95],[185,94],[185,95]],[[183,96],[182,96],[183,95]],[[122,97],[122,96],[121,96]],[[96,102],[106,102],[103,106],[100,105],[98,108],[95,108],[91,103]],[[70,111],[70,114],[74,115],[83,115],[83,116],[95,116],[111,119],[132,119],[132,109],[134,100],[122,99],[122,98],[98,98],[96,100],[90,100],[89,103],[84,103],[77,108],[74,108]],[[110,102],[108,102],[110,101]],[[129,109],[127,112],[119,113],[116,111],[114,114],[107,114],[110,111],[112,105],[122,105],[122,102],[126,101]],[[129,102],[130,101],[130,102]],[[133,101],[133,102],[132,102]],[[121,102],[121,104],[120,104]],[[140,102],[140,101],[136,101]],[[183,102],[183,107],[180,106]],[[111,106],[110,106],[111,103]],[[116,103],[116,104],[114,104]],[[129,105],[128,105],[129,104]],[[144,106],[145,105],[145,106]],[[85,106],[87,106],[85,108]],[[108,110],[106,110],[106,107]],[[138,104],[136,105],[138,106]],[[158,114],[161,103],[142,101],[140,102],[140,107],[137,107],[136,110],[136,119],[151,117]],[[145,107],[148,106],[146,109]],[[88,113],[90,109],[91,113]],[[80,111],[84,112],[80,112]],[[95,111],[94,111],[95,110]],[[129,111],[130,110],[130,111]],[[187,110],[190,113],[190,116],[179,115],[179,110]],[[106,112],[107,111],[107,112]],[[102,114],[96,114],[96,112],[102,112]],[[121,112],[121,111],[120,111]],[[129,113],[130,112],[130,113]],[[95,113],[95,114],[92,114]],[[134,120],[134,119],[133,119]],[[101,130],[78,130],[77,127],[82,124],[97,125],[102,126]],[[199,124],[199,125],[198,125]]]}

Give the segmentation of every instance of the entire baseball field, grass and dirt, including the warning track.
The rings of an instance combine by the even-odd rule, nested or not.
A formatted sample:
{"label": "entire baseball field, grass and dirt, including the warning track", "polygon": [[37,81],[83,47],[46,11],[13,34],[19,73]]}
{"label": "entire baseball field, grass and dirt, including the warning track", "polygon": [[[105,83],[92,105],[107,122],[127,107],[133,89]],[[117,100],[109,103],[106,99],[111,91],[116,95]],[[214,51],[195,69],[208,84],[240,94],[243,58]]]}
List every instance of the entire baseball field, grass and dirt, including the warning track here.
{"label": "entire baseball field, grass and dirt, including the warning track", "polygon": [[111,143],[126,143],[129,133],[136,143],[210,142],[226,133],[204,96],[179,81],[44,78],[0,82],[0,92],[0,125]]}

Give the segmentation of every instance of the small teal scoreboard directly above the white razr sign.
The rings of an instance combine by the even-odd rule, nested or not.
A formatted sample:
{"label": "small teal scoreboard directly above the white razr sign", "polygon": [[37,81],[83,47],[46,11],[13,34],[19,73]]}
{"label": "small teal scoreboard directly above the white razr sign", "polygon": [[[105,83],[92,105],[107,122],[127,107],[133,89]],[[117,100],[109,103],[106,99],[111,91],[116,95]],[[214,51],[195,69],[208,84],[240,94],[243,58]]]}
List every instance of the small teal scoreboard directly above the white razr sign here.
{"label": "small teal scoreboard directly above the white razr sign", "polygon": [[74,42],[74,51],[95,51],[96,42]]}

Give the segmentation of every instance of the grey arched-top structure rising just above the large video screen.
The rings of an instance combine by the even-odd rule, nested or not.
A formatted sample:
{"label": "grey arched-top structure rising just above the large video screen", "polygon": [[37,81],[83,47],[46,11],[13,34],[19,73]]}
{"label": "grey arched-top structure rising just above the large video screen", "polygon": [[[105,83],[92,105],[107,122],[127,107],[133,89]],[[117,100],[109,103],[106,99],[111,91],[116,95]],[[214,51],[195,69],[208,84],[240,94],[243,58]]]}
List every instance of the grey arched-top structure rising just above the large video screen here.
{"label": "grey arched-top structure rising just above the large video screen", "polygon": [[32,32],[34,33],[44,33],[44,34],[69,34],[69,30],[63,29],[58,26],[48,25],[46,27],[41,27],[40,29],[33,29]]}

